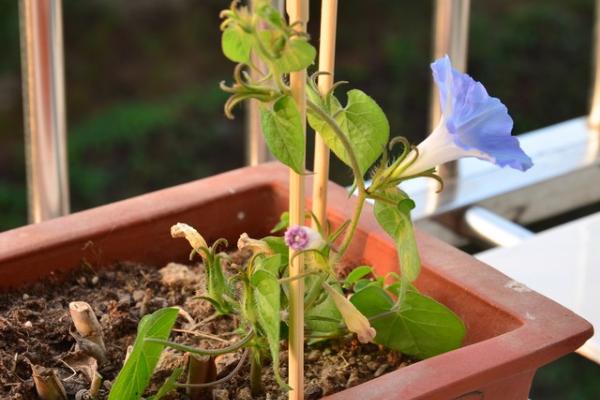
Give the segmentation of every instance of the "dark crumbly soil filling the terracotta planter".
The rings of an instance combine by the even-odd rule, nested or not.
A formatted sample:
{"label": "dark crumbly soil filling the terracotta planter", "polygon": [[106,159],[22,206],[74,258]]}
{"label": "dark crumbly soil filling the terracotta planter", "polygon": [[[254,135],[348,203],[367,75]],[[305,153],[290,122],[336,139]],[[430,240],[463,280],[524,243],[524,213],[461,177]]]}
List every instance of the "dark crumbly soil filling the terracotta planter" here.
{"label": "dark crumbly soil filling the terracotta planter", "polygon": [[[163,270],[164,272],[164,270]],[[31,364],[53,368],[63,381],[70,399],[84,399],[83,390],[89,380],[74,373],[68,365],[68,354],[75,351],[75,339],[68,305],[71,301],[86,301],[94,309],[103,328],[108,361],[99,366],[104,378],[98,398],[108,396],[127,347],[133,344],[140,318],[166,306],[180,306],[196,322],[209,318],[214,310],[203,300],[193,299],[203,287],[203,267],[174,266],[168,278],[157,268],[119,264],[94,271],[89,266],[67,277],[53,277],[31,287],[0,293],[0,398],[6,400],[37,399],[32,382]],[[165,279],[169,281],[167,284]],[[237,321],[219,317],[201,324],[196,331],[219,335],[228,343],[175,332],[172,337],[202,347],[221,347],[239,340],[232,333]],[[190,329],[192,322],[179,318],[177,329]],[[167,350],[157,367],[152,389],[156,389],[176,366],[181,366],[181,353]],[[237,365],[240,354],[217,357],[217,377],[227,375]],[[360,344],[346,339],[306,349],[306,398],[316,399],[377,377],[400,366],[407,360],[394,352],[373,344]],[[282,352],[282,375],[287,374],[287,353]],[[227,383],[205,390],[208,399],[250,399],[249,365]],[[263,369],[267,395],[259,398],[287,399],[275,384],[270,366]],[[79,395],[77,393],[79,392]],[[188,398],[184,392],[169,397]],[[126,399],[124,399],[126,400]]]}

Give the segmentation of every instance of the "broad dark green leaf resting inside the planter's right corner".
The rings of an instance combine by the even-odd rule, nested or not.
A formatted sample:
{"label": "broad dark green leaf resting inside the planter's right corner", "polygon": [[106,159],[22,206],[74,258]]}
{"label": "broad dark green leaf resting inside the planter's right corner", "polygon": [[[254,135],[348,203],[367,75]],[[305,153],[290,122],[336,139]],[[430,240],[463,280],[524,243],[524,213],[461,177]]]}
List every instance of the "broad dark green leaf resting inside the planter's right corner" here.
{"label": "broad dark green leaf resting inside the planter's right corner", "polygon": [[[350,301],[367,318],[388,313],[394,306],[392,298],[377,286],[361,290]],[[375,343],[420,359],[460,347],[466,333],[452,310],[411,290],[398,311],[371,319],[371,326],[377,331]]]}

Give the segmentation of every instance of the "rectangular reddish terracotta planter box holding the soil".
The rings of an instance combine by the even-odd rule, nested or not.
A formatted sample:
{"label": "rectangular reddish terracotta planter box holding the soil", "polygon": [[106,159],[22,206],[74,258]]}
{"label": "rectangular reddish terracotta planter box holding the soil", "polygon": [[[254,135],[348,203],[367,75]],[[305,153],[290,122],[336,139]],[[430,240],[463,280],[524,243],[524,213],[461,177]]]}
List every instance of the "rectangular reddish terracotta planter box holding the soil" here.
{"label": "rectangular reddish terracotta planter box holding the soil", "polygon": [[[334,223],[350,217],[354,201],[343,188],[331,184],[329,198]],[[265,235],[286,208],[287,170],[267,164],[4,232],[0,290],[73,269],[83,259],[93,265],[185,261],[187,243],[171,239],[172,224],[194,225],[209,242],[234,241],[242,232]],[[417,286],[464,319],[464,346],[329,399],[527,399],[537,368],[591,336],[589,323],[557,303],[428,235],[419,233],[418,241]],[[348,259],[381,274],[397,268],[394,245],[370,212]]]}

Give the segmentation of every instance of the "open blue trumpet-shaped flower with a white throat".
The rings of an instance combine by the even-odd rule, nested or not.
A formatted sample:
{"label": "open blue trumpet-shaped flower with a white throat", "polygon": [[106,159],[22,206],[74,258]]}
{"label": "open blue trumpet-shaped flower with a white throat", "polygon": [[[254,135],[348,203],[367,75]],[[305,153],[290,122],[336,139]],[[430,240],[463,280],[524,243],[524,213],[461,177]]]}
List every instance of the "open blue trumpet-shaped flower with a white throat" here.
{"label": "open blue trumpet-shaped flower with a white throat", "polygon": [[477,157],[498,166],[521,171],[533,163],[511,136],[513,121],[506,106],[488,95],[485,87],[467,74],[452,68],[445,56],[431,64],[440,94],[442,117],[438,126],[418,146],[418,158],[403,168],[401,176],[418,175],[433,167],[462,157]]}

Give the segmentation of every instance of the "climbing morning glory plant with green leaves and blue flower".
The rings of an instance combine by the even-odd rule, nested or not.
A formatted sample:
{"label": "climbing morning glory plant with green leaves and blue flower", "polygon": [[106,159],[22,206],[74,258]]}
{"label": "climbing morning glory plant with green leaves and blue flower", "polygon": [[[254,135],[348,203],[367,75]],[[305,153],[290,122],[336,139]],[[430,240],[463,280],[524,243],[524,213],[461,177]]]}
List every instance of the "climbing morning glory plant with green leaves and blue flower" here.
{"label": "climbing morning glory plant with green leaves and blue flower", "polygon": [[[315,48],[308,36],[289,25],[269,2],[257,2],[250,11],[234,1],[221,18],[223,53],[237,63],[233,82],[221,83],[230,94],[225,115],[233,118],[237,105],[249,99],[258,101],[262,131],[272,154],[296,173],[308,173],[303,168],[306,154],[302,115],[292,96],[289,74],[311,67]],[[403,137],[390,140],[384,111],[365,92],[349,89],[341,99],[337,93],[347,82],[337,82],[321,93],[316,78],[322,72],[313,73],[305,84],[307,121],[353,174],[356,206],[352,217],[334,227],[310,215],[316,226],[313,229],[288,226],[284,214],[269,236],[251,238],[241,233],[237,245],[247,258],[235,272],[224,267],[231,262],[222,251],[227,245],[224,240],[209,246],[192,227],[175,225],[172,236],[187,239],[192,247],[190,257],[199,255],[206,267],[207,284],[201,288],[204,294],[200,298],[214,307],[215,318],[236,317],[239,340],[221,349],[169,341],[177,310],[159,310],[141,322],[134,351],[113,386],[111,399],[140,398],[164,347],[208,357],[243,351],[228,377],[196,385],[221,383],[248,359],[252,393],[260,394],[261,371],[270,359],[276,381],[282,390],[289,389],[280,375],[279,360],[293,312],[288,285],[296,279],[305,284],[304,298],[296,303],[304,304],[309,346],[356,338],[418,360],[462,344],[466,330],[460,318],[413,285],[421,269],[410,216],[415,204],[400,185],[410,179],[431,178],[439,181],[441,189],[443,181],[436,167],[462,157],[476,157],[520,171],[530,168],[532,161],[518,139],[511,136],[513,122],[499,99],[490,96],[480,82],[452,68],[448,56],[434,61],[431,69],[440,93],[442,116],[434,131],[418,145]],[[392,159],[389,154],[395,146],[401,146],[401,152]],[[366,179],[369,173],[370,181]],[[355,240],[367,200],[374,203],[376,220],[396,244],[398,270],[377,277],[372,266],[358,265],[347,276],[341,276],[340,261]],[[290,254],[302,255],[303,274],[290,276]],[[134,380],[131,371],[142,373],[137,366],[147,360],[154,364],[144,364],[144,376]],[[177,382],[181,373],[174,371],[160,393],[186,387]]]}

